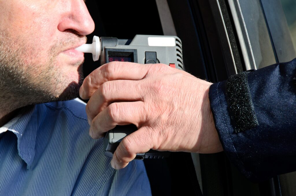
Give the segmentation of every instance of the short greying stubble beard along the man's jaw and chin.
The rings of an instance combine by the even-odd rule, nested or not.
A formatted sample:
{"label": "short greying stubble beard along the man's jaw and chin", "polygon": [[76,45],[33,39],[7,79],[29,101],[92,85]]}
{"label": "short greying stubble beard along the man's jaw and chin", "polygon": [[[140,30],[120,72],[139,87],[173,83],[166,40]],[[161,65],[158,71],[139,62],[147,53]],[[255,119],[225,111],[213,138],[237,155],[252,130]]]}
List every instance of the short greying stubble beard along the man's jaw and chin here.
{"label": "short greying stubble beard along the man's jaw and chin", "polygon": [[[20,45],[22,40],[13,41],[8,33],[0,31],[0,100],[2,102],[0,114],[4,107],[13,111],[27,105],[78,97],[79,88],[83,82],[83,61],[73,65],[78,67],[78,82],[71,81],[71,78],[67,78],[56,66],[61,44],[74,42],[77,42],[77,38],[75,41],[72,38],[55,43],[48,51],[48,60],[42,63],[38,58],[32,57],[33,48],[28,49],[28,46]],[[15,44],[19,47],[15,47]],[[31,56],[26,54],[28,50]],[[32,59],[34,59],[33,62]],[[28,65],[25,62],[32,62],[32,64]],[[3,105],[3,103],[6,104]]]}

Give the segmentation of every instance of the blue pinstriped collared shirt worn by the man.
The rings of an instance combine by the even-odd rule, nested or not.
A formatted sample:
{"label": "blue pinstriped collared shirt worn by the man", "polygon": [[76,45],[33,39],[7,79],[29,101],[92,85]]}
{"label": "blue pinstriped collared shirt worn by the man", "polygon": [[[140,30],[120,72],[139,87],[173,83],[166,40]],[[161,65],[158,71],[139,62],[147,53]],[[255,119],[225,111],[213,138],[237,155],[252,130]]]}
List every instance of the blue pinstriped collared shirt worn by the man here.
{"label": "blue pinstriped collared shirt worn by the man", "polygon": [[0,195],[151,195],[143,162],[113,169],[88,130],[77,99],[24,107],[0,128]]}

